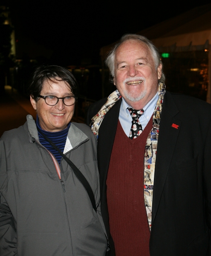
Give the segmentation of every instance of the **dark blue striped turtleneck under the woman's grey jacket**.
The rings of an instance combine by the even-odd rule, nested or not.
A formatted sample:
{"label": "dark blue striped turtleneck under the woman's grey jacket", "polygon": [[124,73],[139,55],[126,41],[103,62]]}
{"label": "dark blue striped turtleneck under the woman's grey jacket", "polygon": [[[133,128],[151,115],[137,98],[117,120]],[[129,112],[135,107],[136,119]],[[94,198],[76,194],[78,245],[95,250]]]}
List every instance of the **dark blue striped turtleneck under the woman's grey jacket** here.
{"label": "dark blue striped turtleneck under the woman's grey jacket", "polygon": [[[43,134],[45,134],[46,137],[48,137],[62,152],[64,151],[66,137],[67,137],[67,134],[69,131],[70,124],[71,124],[71,122],[69,122],[69,124],[67,125],[67,128],[62,131],[55,131],[55,132],[45,131],[40,127],[39,118],[37,116],[38,128],[40,128],[40,130],[42,130]],[[58,163],[60,165],[61,155],[59,154],[59,152],[56,149],[54,149],[52,147],[52,145],[50,145],[49,142],[47,142],[43,138],[43,136],[40,134],[39,131],[38,131],[38,136],[39,136],[40,143],[55,156],[56,160],[58,161]]]}

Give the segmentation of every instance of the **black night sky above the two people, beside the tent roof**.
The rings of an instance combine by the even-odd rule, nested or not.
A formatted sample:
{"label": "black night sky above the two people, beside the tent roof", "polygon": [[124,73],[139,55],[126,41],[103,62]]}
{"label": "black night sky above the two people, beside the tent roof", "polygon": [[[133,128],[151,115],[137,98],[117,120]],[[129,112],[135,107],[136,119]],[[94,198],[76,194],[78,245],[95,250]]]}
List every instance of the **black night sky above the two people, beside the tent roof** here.
{"label": "black night sky above the two people, beside the tent roof", "polygon": [[[40,56],[58,65],[99,64],[99,49],[121,35],[149,26],[210,1],[29,1],[7,0],[15,28],[17,58]],[[24,41],[24,42],[23,42]],[[24,52],[25,44],[33,46]],[[24,45],[22,47],[22,45]],[[30,47],[29,47],[30,48]],[[32,56],[30,56],[30,54]],[[19,55],[19,56],[18,56]],[[43,58],[43,61],[46,61]]]}

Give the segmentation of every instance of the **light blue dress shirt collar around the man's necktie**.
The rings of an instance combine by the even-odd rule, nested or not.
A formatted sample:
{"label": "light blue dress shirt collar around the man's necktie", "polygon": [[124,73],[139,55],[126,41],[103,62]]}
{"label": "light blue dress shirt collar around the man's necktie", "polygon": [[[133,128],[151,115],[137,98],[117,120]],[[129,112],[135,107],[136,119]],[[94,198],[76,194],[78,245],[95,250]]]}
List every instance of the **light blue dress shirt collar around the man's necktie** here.
{"label": "light blue dress shirt collar around the man's necktie", "polygon": [[[147,123],[149,122],[149,120],[155,110],[158,98],[159,97],[158,97],[158,92],[157,92],[156,95],[143,108],[144,113],[139,118],[139,121],[142,124],[143,130],[147,126]],[[127,102],[122,98],[120,111],[119,111],[119,121],[120,121],[121,127],[123,128],[127,137],[129,137],[130,128],[131,128],[132,120],[133,120],[130,115],[129,110],[127,109],[128,107],[131,108],[131,106],[128,105]]]}

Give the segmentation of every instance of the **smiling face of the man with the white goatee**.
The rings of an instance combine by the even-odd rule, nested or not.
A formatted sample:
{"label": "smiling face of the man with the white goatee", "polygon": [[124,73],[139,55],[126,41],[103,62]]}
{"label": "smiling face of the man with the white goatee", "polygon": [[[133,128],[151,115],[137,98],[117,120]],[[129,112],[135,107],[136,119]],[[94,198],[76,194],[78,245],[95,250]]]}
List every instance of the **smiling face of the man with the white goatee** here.
{"label": "smiling face of the man with the white goatee", "polygon": [[158,90],[162,65],[156,70],[150,49],[146,44],[128,40],[116,50],[114,84],[127,103],[143,108]]}

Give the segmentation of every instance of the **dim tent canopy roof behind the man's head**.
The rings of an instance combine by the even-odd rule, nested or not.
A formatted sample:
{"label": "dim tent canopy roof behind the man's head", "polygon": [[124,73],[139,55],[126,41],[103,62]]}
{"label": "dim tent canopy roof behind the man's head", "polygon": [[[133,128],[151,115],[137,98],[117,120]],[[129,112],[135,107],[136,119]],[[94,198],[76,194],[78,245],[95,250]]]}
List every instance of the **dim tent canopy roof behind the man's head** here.
{"label": "dim tent canopy roof behind the man's head", "polygon": [[[153,41],[159,52],[207,49],[208,44],[211,44],[210,17],[211,4],[207,4],[162,21],[136,34],[144,35]],[[101,48],[102,59],[105,59],[113,45]]]}

